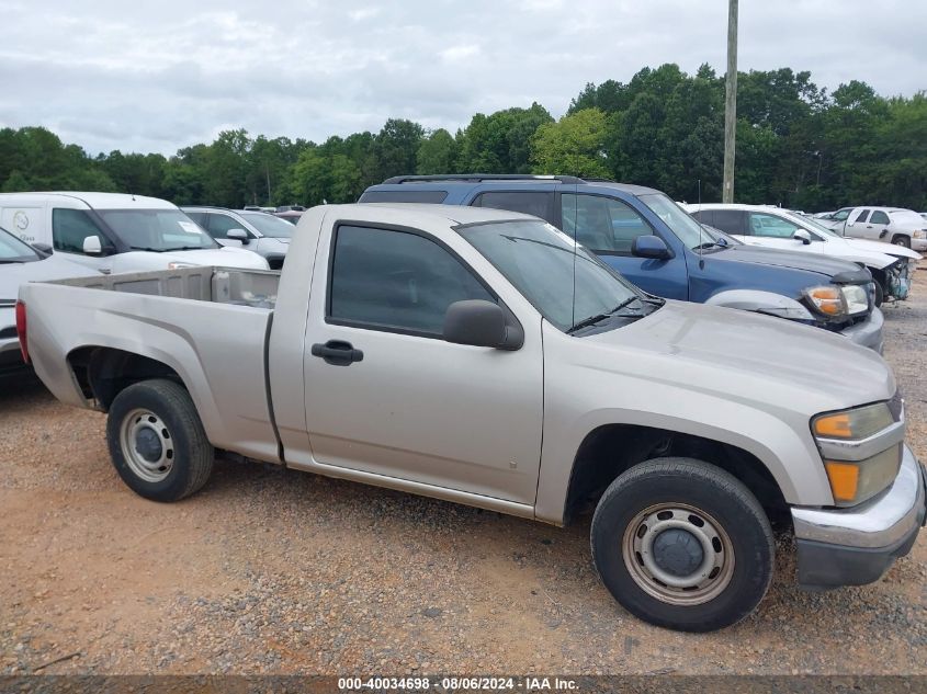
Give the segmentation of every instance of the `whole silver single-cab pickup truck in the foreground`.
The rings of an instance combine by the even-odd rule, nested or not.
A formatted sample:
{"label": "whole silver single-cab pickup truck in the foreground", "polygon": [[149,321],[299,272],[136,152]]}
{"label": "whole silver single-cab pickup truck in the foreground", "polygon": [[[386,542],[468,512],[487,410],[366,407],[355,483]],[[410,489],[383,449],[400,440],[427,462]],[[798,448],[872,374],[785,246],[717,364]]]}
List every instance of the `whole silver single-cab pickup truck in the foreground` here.
{"label": "whole silver single-cab pickup truck in the foreground", "polygon": [[642,293],[495,209],[307,212],[282,274],[37,283],[19,331],[113,464],[176,501],[216,448],[555,525],[595,504],[609,591],[665,627],[749,614],[792,533],[798,580],[878,580],[925,474],[891,371],[839,335]]}

